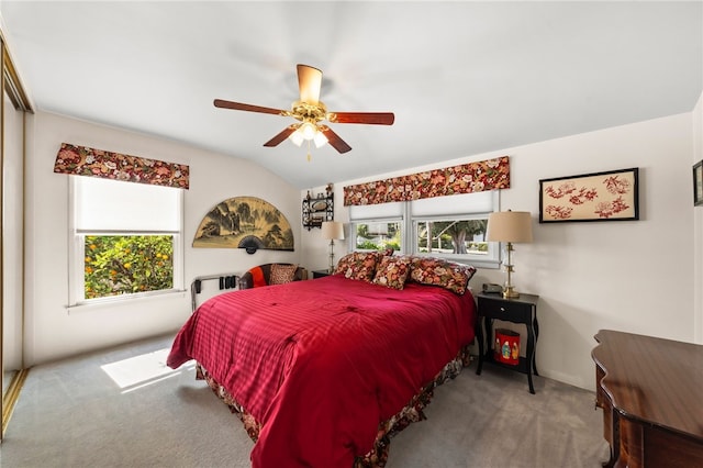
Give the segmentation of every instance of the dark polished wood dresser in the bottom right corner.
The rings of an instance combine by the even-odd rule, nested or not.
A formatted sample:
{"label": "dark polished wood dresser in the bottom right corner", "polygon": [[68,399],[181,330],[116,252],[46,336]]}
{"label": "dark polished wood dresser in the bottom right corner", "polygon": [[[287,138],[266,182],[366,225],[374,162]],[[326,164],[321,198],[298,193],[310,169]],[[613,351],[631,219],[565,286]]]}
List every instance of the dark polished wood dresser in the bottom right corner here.
{"label": "dark polished wood dresser in the bottom right corner", "polygon": [[703,346],[601,330],[596,401],[606,467],[703,467]]}

